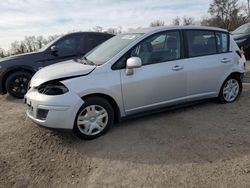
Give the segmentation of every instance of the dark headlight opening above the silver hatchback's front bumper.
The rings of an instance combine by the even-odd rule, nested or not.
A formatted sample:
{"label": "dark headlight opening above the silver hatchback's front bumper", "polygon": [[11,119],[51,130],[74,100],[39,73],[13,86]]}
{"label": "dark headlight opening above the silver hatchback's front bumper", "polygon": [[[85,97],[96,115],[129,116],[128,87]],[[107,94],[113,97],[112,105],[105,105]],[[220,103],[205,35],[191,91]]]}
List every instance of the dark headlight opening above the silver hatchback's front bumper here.
{"label": "dark headlight opening above the silver hatchback's front bumper", "polygon": [[69,91],[65,85],[58,81],[46,82],[38,86],[37,90],[44,95],[62,95]]}

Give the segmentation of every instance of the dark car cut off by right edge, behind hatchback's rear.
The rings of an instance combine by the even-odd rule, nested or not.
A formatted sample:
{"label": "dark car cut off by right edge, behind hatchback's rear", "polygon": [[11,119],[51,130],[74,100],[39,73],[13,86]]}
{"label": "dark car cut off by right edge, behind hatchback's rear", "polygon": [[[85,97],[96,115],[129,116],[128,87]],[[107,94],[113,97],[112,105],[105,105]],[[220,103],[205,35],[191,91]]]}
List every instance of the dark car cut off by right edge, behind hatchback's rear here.
{"label": "dark car cut off by right edge, behind hatchback's rear", "polygon": [[250,59],[250,23],[238,27],[232,35],[238,46],[245,52],[246,58]]}

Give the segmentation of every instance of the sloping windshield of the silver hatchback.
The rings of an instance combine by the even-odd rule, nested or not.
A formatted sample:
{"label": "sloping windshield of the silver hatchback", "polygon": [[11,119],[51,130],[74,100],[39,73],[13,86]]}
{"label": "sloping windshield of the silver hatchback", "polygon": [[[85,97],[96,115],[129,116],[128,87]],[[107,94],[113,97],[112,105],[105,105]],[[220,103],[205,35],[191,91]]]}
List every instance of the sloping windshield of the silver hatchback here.
{"label": "sloping windshield of the silver hatchback", "polygon": [[122,49],[124,49],[128,44],[134,41],[136,38],[142,34],[121,34],[111,39],[107,40],[93,51],[86,55],[86,58],[94,62],[96,65],[101,65],[109,61]]}

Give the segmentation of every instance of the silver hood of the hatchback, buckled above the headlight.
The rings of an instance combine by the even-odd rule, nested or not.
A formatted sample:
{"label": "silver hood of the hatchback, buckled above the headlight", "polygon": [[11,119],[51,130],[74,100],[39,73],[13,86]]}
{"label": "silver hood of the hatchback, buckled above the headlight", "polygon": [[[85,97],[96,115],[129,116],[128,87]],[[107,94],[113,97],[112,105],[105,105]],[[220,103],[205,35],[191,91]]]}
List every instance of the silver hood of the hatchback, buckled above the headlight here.
{"label": "silver hood of the hatchback, buckled above the headlight", "polygon": [[50,65],[39,70],[31,79],[30,86],[37,87],[52,80],[64,80],[72,77],[85,76],[92,72],[96,66],[83,65],[74,60]]}

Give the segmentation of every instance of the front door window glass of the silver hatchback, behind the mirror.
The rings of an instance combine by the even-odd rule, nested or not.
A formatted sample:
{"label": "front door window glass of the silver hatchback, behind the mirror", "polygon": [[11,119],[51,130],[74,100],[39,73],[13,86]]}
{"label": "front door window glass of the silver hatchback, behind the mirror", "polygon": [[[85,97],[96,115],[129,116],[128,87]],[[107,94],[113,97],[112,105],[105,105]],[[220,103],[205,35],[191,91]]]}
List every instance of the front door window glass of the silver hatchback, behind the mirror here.
{"label": "front door window glass of the silver hatchback, behind the mirror", "polygon": [[143,65],[180,58],[180,34],[171,31],[151,36],[135,46],[130,57],[140,57]]}

